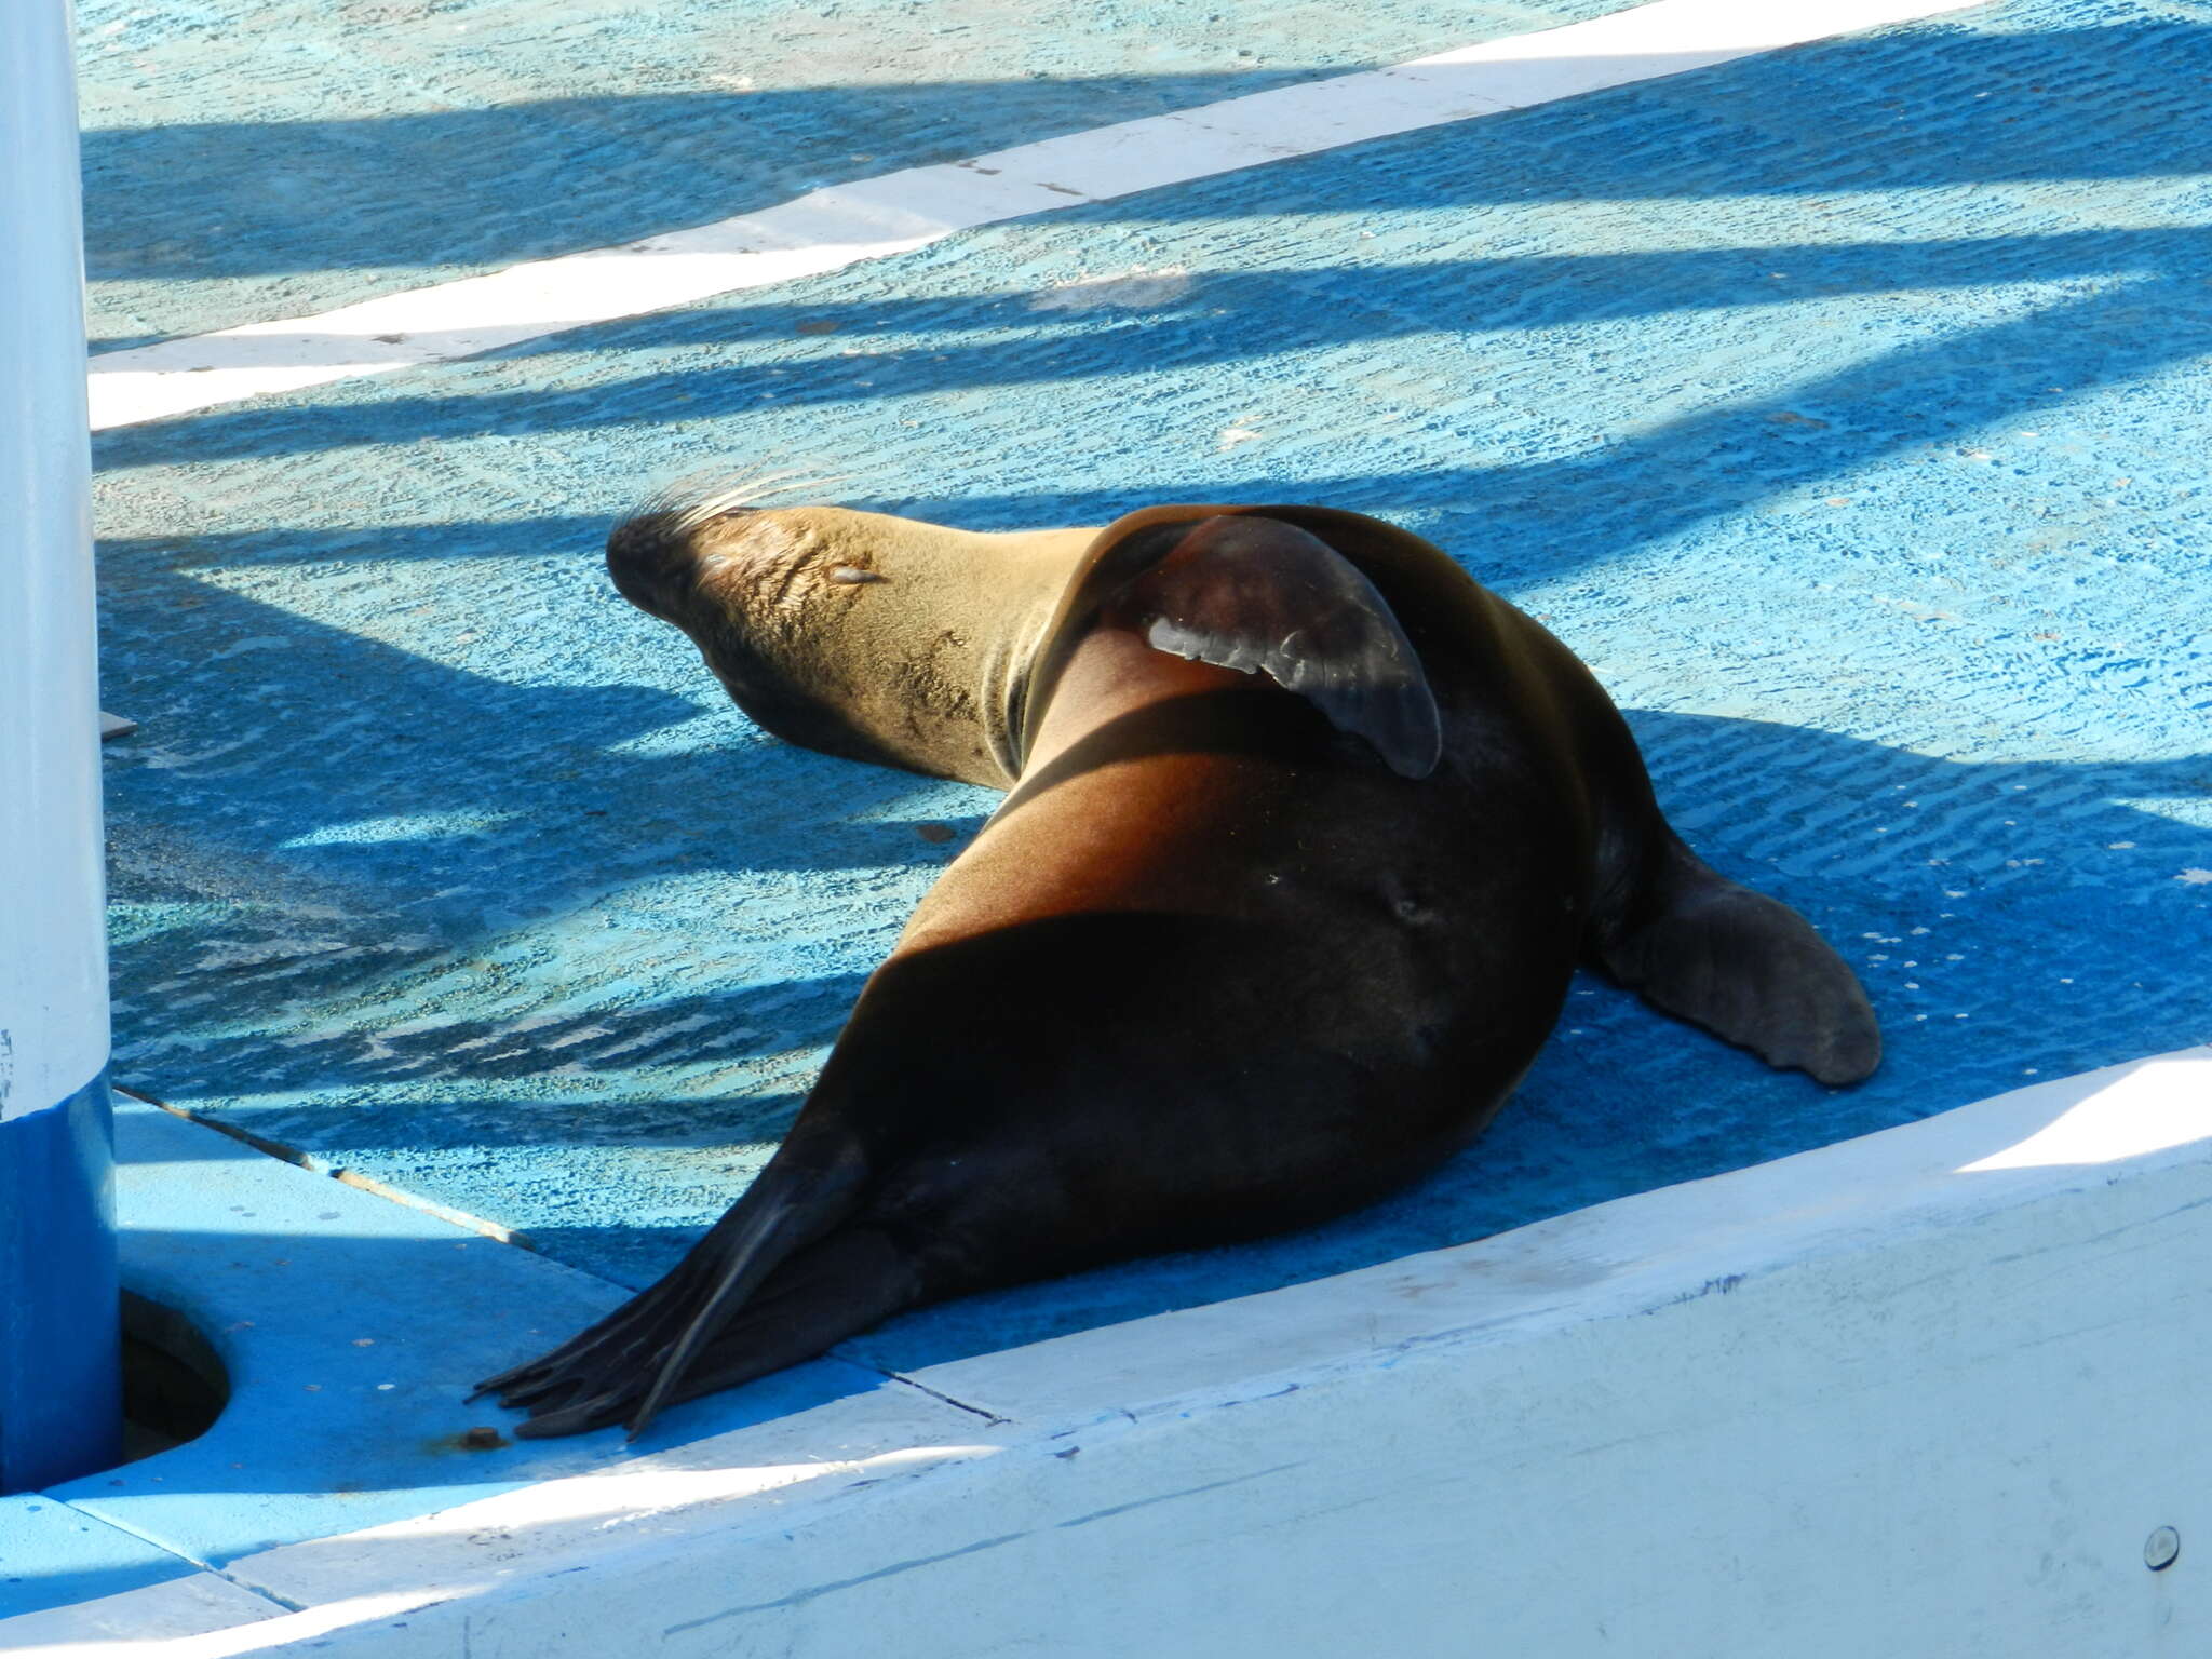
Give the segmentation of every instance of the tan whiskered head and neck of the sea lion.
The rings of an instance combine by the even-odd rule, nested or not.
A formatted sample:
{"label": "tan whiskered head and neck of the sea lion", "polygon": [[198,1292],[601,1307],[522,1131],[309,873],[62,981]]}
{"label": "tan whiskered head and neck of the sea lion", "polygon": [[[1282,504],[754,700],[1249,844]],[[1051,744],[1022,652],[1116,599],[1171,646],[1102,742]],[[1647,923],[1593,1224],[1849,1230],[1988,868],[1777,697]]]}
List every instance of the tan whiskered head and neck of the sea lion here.
{"label": "tan whiskered head and neck of the sea lion", "polygon": [[856,761],[1006,787],[1022,681],[1095,529],[980,535],[845,507],[661,498],[606,538],[754,721]]}

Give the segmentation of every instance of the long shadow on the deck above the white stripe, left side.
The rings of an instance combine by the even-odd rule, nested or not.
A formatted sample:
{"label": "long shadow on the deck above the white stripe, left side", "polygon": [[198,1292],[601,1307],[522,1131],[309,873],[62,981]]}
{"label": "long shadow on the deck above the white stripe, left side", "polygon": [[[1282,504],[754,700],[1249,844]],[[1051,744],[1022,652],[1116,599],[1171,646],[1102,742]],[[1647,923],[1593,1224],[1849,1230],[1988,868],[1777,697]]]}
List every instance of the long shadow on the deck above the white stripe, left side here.
{"label": "long shadow on the deck above the white stripe, left side", "polygon": [[436,281],[1327,73],[630,93],[95,128],[84,135],[86,276],[394,270]]}

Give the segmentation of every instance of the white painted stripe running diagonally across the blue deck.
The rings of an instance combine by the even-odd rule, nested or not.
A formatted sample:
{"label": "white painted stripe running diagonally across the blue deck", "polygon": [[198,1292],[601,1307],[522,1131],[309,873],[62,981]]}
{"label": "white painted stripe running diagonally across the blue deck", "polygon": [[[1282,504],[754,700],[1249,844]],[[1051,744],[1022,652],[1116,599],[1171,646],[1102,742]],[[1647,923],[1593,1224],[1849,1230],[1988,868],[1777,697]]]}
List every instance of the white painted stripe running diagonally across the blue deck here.
{"label": "white painted stripe running diagonally across the blue deck", "polygon": [[960,230],[1679,75],[1980,0],[1655,0],[1608,18],[812,190],[697,230],[91,363],[93,431],[449,363],[925,248]]}

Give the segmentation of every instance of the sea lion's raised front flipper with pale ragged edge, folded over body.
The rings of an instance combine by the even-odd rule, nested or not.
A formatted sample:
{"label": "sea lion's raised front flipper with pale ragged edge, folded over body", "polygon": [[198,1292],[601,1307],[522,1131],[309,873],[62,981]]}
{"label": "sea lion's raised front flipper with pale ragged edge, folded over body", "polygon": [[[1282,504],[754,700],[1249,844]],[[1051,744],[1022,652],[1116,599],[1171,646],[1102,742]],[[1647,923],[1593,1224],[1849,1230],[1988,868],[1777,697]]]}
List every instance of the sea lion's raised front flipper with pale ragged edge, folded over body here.
{"label": "sea lion's raised front flipper with pale ragged edge, folded over body", "polygon": [[1298,692],[1400,776],[1436,770],[1444,739],[1420,657],[1389,602],[1327,542],[1274,518],[1208,518],[1115,608],[1155,650]]}

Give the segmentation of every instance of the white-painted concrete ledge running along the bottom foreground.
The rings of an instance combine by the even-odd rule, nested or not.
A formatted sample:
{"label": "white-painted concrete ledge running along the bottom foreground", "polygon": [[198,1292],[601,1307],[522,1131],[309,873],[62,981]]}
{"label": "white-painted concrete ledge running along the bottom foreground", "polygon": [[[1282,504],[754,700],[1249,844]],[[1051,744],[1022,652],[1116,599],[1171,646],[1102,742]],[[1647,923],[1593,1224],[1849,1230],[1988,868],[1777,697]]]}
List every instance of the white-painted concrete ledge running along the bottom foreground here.
{"label": "white-painted concrete ledge running along the bottom foreground", "polygon": [[2197,1048],[918,1374],[989,1416],[887,1389],[268,1551],[228,1624],[184,1579],[0,1648],[2197,1655],[2208,1152]]}

